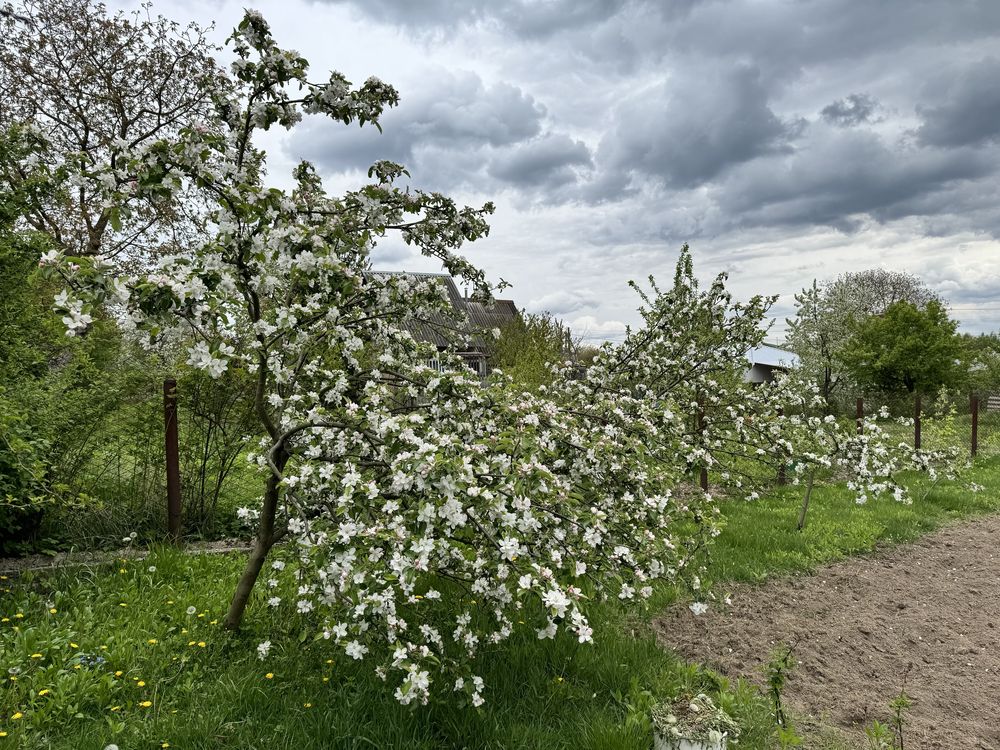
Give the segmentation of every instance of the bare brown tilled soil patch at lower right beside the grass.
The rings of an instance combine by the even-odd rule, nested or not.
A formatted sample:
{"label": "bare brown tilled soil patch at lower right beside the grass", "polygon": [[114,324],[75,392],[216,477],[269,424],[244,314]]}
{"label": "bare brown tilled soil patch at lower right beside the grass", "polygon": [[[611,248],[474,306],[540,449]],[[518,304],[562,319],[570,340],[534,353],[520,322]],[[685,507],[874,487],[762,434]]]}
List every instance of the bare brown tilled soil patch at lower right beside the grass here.
{"label": "bare brown tilled soil patch at lower right beside the grass", "polygon": [[1000,518],[742,587],[726,611],[672,610],[656,628],[689,659],[757,682],[771,650],[795,643],[788,702],[859,739],[905,676],[907,748],[1000,750]]}

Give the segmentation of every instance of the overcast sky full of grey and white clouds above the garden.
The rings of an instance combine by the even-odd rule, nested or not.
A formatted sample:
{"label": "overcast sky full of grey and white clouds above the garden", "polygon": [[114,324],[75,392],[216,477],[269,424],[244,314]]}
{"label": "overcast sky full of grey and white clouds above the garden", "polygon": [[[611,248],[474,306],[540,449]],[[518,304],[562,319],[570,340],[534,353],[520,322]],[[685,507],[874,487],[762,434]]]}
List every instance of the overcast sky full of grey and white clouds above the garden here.
{"label": "overcast sky full of grey and white clouds above the garden", "polygon": [[[159,0],[215,21],[248,3]],[[737,296],[884,267],[922,277],[963,330],[1000,329],[1000,0],[281,0],[278,43],[400,91],[384,133],[307,120],[272,178],[334,190],[375,159],[497,206],[468,256],[503,296],[586,337],[634,323],[629,279],[689,242]],[[405,248],[382,268],[440,270]],[[783,322],[772,338],[778,340]]]}

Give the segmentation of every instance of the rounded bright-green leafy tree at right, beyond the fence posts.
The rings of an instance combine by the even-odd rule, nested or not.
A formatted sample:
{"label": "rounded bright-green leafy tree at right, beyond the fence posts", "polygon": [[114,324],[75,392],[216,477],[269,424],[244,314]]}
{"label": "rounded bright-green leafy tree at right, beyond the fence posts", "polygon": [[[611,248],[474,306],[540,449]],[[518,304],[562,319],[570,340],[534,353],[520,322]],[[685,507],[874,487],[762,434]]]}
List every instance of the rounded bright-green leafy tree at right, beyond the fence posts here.
{"label": "rounded bright-green leafy tree at right, beyond the fence posts", "polygon": [[896,302],[858,322],[839,353],[864,388],[885,393],[928,393],[955,382],[962,352],[958,324],[944,306]]}

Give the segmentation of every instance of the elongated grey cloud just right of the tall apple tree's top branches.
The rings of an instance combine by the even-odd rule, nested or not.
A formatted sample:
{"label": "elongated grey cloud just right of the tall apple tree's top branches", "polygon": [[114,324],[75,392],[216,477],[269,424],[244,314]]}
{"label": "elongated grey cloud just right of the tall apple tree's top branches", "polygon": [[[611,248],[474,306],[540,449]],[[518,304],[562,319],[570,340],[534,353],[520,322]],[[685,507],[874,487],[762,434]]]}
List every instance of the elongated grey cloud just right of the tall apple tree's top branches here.
{"label": "elongated grey cloud just right of the tall apple tree's top branches", "polygon": [[331,171],[367,169],[378,159],[412,165],[421,148],[468,151],[530,139],[544,114],[517,86],[486,86],[473,73],[440,73],[430,86],[401,92],[400,105],[381,119],[381,133],[315,122],[296,131],[288,149]]}

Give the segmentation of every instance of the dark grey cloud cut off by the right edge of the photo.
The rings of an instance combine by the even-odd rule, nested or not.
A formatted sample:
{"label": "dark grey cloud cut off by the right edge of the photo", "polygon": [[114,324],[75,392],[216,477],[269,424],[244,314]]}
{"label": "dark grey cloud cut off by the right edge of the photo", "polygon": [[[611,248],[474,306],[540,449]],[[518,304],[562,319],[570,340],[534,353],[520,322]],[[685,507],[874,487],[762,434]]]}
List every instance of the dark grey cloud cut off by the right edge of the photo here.
{"label": "dark grey cloud cut off by the right edge of the photo", "polygon": [[953,147],[1000,140],[1000,60],[953,69],[927,89],[935,103],[917,106],[921,142]]}

